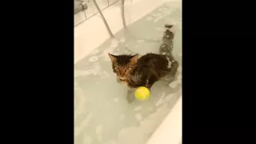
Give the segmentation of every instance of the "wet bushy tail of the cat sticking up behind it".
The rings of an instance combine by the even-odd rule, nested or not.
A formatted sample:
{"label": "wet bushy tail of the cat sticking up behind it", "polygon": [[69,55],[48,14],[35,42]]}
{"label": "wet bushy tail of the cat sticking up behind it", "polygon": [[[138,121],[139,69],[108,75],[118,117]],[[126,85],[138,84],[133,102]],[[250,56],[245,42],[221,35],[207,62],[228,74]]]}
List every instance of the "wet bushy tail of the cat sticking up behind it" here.
{"label": "wet bushy tail of the cat sticking up behind it", "polygon": [[173,47],[174,47],[174,25],[165,25],[165,32],[162,36],[161,45],[159,48],[159,53],[166,55],[167,58],[173,59]]}

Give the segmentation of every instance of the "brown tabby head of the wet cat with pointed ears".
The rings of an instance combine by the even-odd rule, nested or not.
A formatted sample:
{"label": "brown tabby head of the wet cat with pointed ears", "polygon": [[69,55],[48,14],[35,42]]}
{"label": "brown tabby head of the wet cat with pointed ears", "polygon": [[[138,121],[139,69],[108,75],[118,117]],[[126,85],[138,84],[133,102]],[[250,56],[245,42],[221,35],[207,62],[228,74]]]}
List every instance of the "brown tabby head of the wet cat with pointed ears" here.
{"label": "brown tabby head of the wet cat with pointed ears", "polygon": [[136,63],[138,61],[138,54],[109,54],[109,57],[112,62],[112,68],[114,73],[117,74],[118,78],[120,78],[121,80],[125,80],[130,77],[130,74],[135,69]]}

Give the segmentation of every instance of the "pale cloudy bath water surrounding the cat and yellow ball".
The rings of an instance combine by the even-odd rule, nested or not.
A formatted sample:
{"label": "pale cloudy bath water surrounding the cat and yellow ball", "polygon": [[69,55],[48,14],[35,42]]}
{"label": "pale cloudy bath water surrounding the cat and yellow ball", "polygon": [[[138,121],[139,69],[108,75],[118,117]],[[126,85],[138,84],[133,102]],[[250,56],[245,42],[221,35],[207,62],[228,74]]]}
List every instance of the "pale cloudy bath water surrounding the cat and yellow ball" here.
{"label": "pale cloudy bath water surrounding the cat and yellow ball", "polygon": [[[150,99],[126,101],[126,87],[116,81],[111,54],[158,53],[164,25],[177,26],[174,58],[180,64],[176,80],[156,82]],[[182,95],[182,4],[170,2],[121,30],[74,65],[75,144],[145,144]]]}

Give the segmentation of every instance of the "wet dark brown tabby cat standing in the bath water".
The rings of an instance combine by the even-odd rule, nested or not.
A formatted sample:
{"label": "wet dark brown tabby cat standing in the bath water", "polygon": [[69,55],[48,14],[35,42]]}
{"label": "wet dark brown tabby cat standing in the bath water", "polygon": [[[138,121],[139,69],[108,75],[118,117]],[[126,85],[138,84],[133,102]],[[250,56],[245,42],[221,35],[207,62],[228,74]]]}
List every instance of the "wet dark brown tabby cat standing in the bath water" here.
{"label": "wet dark brown tabby cat standing in the bath water", "polygon": [[166,25],[165,27],[166,31],[163,34],[162,44],[159,48],[160,54],[150,53],[140,58],[138,54],[109,54],[118,82],[122,82],[129,88],[128,102],[134,101],[132,93],[139,86],[146,86],[150,89],[154,82],[158,80],[166,81],[168,84],[174,80],[178,62],[175,61],[172,55],[174,33],[170,28],[173,26]]}

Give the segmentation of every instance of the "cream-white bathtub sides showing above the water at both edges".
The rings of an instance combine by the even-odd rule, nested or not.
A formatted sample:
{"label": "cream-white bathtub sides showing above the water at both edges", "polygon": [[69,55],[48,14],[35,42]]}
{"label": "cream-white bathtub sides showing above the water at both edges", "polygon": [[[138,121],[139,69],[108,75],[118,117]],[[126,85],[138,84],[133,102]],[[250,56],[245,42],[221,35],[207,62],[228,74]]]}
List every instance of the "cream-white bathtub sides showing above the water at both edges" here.
{"label": "cream-white bathtub sides showing above the water at both edges", "polygon": [[[126,0],[126,23],[129,25],[136,22],[139,18],[148,14],[164,2],[175,0]],[[181,0],[177,0],[181,1]],[[132,4],[132,5],[130,5]],[[143,10],[141,8],[143,7]],[[102,11],[106,20],[115,34],[122,29],[122,19],[119,3],[110,6]],[[114,19],[113,19],[114,18]],[[99,34],[99,35],[96,35]],[[109,34],[103,25],[99,15],[94,16],[74,27],[74,63],[78,62],[89,54],[95,47],[99,46],[109,38]],[[85,49],[86,47],[86,49]],[[147,144],[178,144],[182,139],[182,96],[178,99],[169,114],[158,126],[157,130],[150,136]]]}

